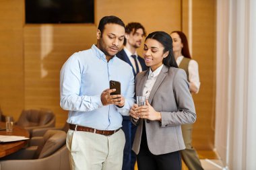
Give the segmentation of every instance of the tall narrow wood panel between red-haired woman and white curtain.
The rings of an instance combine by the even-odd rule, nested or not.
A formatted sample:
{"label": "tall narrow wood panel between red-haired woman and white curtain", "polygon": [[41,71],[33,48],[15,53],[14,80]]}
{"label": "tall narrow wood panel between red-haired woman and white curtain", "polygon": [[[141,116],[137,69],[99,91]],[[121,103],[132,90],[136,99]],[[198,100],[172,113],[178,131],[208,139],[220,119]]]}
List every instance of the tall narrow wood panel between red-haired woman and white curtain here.
{"label": "tall narrow wood panel between red-haired woman and white curtain", "polygon": [[193,95],[197,122],[193,146],[199,150],[214,148],[216,1],[193,0],[193,58],[199,64],[200,91]]}

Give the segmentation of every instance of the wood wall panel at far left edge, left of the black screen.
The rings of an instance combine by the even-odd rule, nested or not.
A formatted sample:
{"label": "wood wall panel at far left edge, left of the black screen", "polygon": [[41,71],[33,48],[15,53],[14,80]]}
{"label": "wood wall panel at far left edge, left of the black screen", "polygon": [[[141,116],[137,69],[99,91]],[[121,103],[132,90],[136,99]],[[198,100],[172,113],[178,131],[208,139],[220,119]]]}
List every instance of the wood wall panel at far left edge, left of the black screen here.
{"label": "wood wall panel at far left edge, left of the black screen", "polygon": [[24,108],[23,1],[0,1],[0,107],[18,119]]}

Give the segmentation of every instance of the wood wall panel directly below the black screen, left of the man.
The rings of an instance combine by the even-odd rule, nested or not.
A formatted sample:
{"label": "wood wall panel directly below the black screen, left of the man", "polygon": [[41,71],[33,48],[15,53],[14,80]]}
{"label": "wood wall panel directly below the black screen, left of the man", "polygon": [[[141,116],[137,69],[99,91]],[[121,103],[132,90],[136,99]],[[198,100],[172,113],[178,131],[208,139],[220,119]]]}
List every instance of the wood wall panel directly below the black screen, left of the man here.
{"label": "wood wall panel directly below the black screen, left of the man", "polygon": [[96,42],[96,27],[83,25],[28,25],[24,27],[25,108],[53,110],[57,126],[67,120],[59,106],[59,73],[74,52]]}

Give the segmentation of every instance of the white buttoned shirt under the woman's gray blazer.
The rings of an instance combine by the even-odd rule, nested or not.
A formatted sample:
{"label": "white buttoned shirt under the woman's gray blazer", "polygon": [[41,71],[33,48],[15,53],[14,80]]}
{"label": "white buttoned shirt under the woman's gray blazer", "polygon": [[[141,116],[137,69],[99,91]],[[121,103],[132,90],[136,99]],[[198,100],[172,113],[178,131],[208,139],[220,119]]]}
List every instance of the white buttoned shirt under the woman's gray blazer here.
{"label": "white buttoned shirt under the woman's gray blazer", "polygon": [[143,96],[146,96],[146,99],[148,99],[150,97],[150,92],[151,92],[154,84],[156,83],[156,79],[158,78],[158,75],[159,75],[160,71],[162,70],[163,66],[164,65],[161,65],[154,72],[152,72],[152,70],[150,68],[150,73],[148,74],[148,79],[147,79],[144,89],[143,89]]}

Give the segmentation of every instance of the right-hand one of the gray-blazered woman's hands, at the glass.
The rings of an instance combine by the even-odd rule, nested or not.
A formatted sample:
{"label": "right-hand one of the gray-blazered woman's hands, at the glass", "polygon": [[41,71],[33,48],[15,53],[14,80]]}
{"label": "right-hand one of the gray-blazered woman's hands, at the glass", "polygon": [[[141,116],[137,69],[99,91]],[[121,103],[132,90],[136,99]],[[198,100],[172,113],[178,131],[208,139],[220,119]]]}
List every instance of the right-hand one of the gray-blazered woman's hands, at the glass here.
{"label": "right-hand one of the gray-blazered woman's hands, at the glass", "polygon": [[146,105],[141,105],[137,108],[137,115],[139,118],[144,118],[148,120],[160,120],[161,121],[161,113],[156,112],[154,108],[148,103],[146,100]]}

